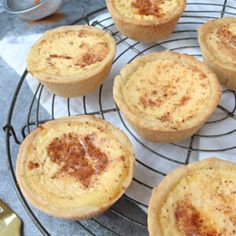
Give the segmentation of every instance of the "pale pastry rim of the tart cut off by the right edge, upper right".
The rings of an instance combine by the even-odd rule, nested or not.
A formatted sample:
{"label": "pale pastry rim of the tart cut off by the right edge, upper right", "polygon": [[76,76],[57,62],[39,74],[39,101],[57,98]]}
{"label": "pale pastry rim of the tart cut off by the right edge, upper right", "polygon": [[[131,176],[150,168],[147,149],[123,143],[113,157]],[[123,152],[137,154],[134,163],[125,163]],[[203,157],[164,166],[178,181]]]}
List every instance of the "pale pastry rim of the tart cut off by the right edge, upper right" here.
{"label": "pale pastry rim of the tart cut off by the right edge, upper right", "polygon": [[215,19],[215,20],[210,20],[210,21],[207,21],[206,23],[202,24],[198,28],[198,41],[199,41],[201,50],[202,51],[204,50],[203,56],[206,56],[207,58],[209,58],[210,61],[213,62],[218,67],[221,67],[221,68],[223,67],[226,70],[236,72],[235,66],[228,64],[228,63],[224,63],[222,60],[219,60],[219,58],[217,56],[215,56],[215,54],[210,49],[209,45],[206,43],[206,36],[209,33],[209,29],[215,29],[218,26],[221,26],[221,25],[227,24],[227,23],[236,23],[236,18],[235,17],[224,17],[224,18],[219,18],[219,19]]}

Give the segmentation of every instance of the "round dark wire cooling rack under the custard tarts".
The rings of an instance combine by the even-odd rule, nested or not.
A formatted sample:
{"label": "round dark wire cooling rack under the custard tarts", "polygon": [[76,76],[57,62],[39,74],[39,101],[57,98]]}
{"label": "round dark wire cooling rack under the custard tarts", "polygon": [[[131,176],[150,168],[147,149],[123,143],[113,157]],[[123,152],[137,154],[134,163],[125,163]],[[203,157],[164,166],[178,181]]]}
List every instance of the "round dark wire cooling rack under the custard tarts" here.
{"label": "round dark wire cooling rack under the custard tarts", "polygon": [[[119,50],[116,55],[113,65],[114,68],[118,67],[119,61],[126,64],[139,55],[151,51],[162,51],[166,48],[172,51],[185,52],[201,59],[196,29],[207,20],[235,15],[236,0],[188,1],[187,8],[178,22],[177,28],[173,32],[172,36],[165,41],[151,45],[142,45],[139,42],[132,41],[121,35],[115,28],[106,8],[101,8],[84,15],[71,24],[93,25],[112,34],[116,40],[117,47],[122,48],[122,50]],[[117,71],[114,73],[116,72]],[[32,97],[27,100],[27,105],[22,107],[22,112],[25,114],[25,120],[20,124],[20,129],[16,128],[19,127],[20,121],[17,121],[14,112],[17,106],[22,106],[22,104],[18,104],[17,102],[21,99],[21,96],[24,96],[21,91],[26,83],[27,76],[28,72],[25,70],[15,90],[9,108],[7,124],[4,127],[6,132],[9,171],[15,190],[25,210],[43,235],[51,235],[53,232],[52,228],[50,228],[50,225],[45,225],[45,223],[42,224],[42,221],[49,221],[55,226],[55,221],[59,220],[55,218],[52,219],[52,217],[40,213],[28,205],[16,182],[16,157],[12,156],[11,150],[18,149],[23,139],[34,128],[38,127],[39,124],[56,117],[58,104],[56,100],[58,97],[51,95],[49,101],[50,111],[47,107],[49,114],[45,115],[46,113],[42,111],[40,106],[42,103],[42,94],[45,89],[43,85],[38,84]],[[140,207],[137,207],[137,205],[139,205],[144,210],[147,207],[147,200],[142,196],[142,193],[147,192],[146,198],[149,198],[152,188],[160,182],[163,176],[177,166],[185,165],[198,159],[199,153],[218,153],[227,156],[232,155],[232,152],[236,149],[236,146],[232,144],[232,141],[227,142],[228,139],[234,140],[236,138],[236,129],[234,128],[236,125],[236,93],[223,89],[222,101],[218,106],[215,115],[206,123],[200,132],[193,135],[189,140],[181,143],[160,145],[152,144],[143,140],[127,124],[115,103],[113,106],[108,106],[106,104],[107,96],[104,95],[104,91],[107,90],[108,94],[110,91],[111,95],[111,81],[112,78],[106,80],[96,92],[97,106],[95,107],[97,107],[97,109],[95,107],[93,107],[92,110],[88,108],[91,99],[88,96],[84,96],[80,98],[79,103],[81,112],[76,115],[96,115],[120,127],[130,137],[135,146],[136,153],[141,151],[143,157],[136,155],[137,170],[131,188],[116,204],[112,206],[111,209],[102,216],[87,221],[76,222],[75,224],[79,224],[83,230],[90,235],[127,235],[126,232],[130,232],[129,235],[147,235],[146,213],[141,210]],[[110,96],[109,99],[112,100],[112,97]],[[72,114],[73,109],[71,107],[71,99],[66,99],[64,103],[66,106],[64,107],[63,112],[66,116],[74,115]],[[225,143],[226,145],[211,146],[212,143]],[[176,156],[178,158],[176,158]],[[157,165],[151,165],[149,158],[155,159]],[[146,175],[153,177],[155,181],[150,181],[149,178],[146,178]],[[134,192],[137,194],[133,194]],[[98,230],[98,228],[102,229],[102,231]],[[64,229],[66,230],[66,228]],[[66,232],[61,232],[60,234],[67,235]]]}

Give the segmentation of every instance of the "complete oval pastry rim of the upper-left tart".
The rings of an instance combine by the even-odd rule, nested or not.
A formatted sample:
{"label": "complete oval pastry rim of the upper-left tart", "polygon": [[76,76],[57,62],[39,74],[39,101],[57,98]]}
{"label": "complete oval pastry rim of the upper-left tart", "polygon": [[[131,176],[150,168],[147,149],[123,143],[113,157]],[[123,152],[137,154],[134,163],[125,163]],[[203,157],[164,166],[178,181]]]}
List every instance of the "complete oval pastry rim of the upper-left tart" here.
{"label": "complete oval pastry rim of the upper-left tart", "polygon": [[[47,37],[58,32],[66,32],[66,31],[79,31],[79,30],[86,29],[88,31],[96,32],[101,35],[104,35],[107,39],[107,42],[109,44],[109,50],[108,54],[104,58],[104,60],[101,62],[101,64],[91,69],[88,69],[84,71],[83,73],[75,73],[73,75],[55,75],[55,74],[48,74],[44,72],[34,72],[30,67],[30,60],[31,60],[31,50],[33,50],[35,47],[37,47],[41,41],[47,40]],[[113,37],[108,33],[105,32],[99,28],[96,28],[94,26],[88,26],[88,25],[71,25],[71,26],[60,26],[55,29],[48,30],[44,32],[44,34],[34,43],[34,45],[31,47],[31,50],[27,57],[27,70],[32,74],[34,77],[36,77],[38,80],[42,82],[50,82],[55,84],[68,84],[68,83],[77,83],[78,81],[85,81],[89,80],[92,76],[100,73],[103,71],[103,69],[106,67],[107,64],[109,64],[111,61],[113,61],[116,53],[116,43],[113,39]]]}

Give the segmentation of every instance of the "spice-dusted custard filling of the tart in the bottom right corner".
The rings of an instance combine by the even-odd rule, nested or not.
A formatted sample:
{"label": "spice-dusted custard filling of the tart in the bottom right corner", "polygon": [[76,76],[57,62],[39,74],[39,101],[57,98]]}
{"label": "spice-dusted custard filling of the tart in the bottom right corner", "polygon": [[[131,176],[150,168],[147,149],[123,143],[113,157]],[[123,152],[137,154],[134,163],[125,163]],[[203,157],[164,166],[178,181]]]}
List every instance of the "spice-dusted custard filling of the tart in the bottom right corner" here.
{"label": "spice-dusted custard filling of the tart in the bottom right corner", "polygon": [[163,236],[235,235],[235,213],[236,171],[209,168],[183,178],[159,217]]}

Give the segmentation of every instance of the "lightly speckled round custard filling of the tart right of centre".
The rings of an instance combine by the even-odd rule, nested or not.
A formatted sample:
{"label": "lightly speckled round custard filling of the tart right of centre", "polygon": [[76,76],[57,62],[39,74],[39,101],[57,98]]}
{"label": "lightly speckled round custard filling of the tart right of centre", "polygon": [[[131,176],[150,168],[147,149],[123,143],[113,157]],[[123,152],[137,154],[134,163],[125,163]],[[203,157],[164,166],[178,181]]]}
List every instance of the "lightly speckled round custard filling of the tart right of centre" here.
{"label": "lightly speckled round custard filling of the tart right of centre", "polygon": [[212,89],[206,71],[193,62],[157,57],[126,75],[121,93],[131,113],[175,130],[201,119],[214,97]]}

